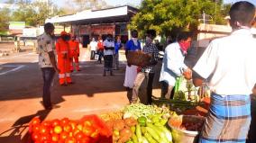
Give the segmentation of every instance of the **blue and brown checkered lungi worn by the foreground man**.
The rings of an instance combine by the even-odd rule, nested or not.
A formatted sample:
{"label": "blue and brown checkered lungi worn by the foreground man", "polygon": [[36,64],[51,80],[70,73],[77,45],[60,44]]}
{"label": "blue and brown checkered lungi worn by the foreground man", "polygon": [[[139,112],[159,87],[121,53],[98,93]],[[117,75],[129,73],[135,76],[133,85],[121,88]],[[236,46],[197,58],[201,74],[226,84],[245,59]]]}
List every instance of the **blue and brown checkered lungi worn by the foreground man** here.
{"label": "blue and brown checkered lungi worn by the foreground man", "polygon": [[250,95],[212,94],[199,143],[245,143],[250,123]]}

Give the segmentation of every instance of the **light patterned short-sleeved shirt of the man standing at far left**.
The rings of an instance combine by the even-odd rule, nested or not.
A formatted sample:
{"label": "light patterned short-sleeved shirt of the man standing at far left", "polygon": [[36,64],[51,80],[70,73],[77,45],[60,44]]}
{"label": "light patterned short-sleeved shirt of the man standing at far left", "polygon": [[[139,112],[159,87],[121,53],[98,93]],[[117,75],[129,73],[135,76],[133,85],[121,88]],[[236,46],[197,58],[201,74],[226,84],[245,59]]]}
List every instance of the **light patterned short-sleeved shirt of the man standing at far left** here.
{"label": "light patterned short-sleeved shirt of the man standing at far left", "polygon": [[38,36],[37,43],[39,50],[39,66],[41,68],[52,67],[48,52],[53,51],[55,53],[54,40],[50,37],[50,35],[43,33]]}

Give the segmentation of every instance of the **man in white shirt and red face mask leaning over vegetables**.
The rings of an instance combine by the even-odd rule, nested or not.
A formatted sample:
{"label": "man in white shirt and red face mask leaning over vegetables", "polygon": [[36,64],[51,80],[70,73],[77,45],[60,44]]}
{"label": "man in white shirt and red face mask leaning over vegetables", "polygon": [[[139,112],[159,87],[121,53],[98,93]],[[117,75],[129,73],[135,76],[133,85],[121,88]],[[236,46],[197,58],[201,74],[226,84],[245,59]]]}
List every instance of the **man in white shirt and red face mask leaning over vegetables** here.
{"label": "man in white shirt and red face mask leaning over vegetables", "polygon": [[172,98],[170,94],[177,77],[182,76],[183,69],[187,69],[184,58],[187,55],[187,49],[190,48],[190,43],[190,32],[183,31],[178,35],[178,41],[169,44],[165,49],[160,71],[161,97]]}

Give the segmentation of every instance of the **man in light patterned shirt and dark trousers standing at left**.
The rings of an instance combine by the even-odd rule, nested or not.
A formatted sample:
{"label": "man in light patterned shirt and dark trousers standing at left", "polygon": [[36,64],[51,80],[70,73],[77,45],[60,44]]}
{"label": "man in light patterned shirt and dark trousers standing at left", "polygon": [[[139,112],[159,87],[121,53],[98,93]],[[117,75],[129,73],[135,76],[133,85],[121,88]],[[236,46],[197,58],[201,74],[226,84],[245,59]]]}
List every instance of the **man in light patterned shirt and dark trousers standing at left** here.
{"label": "man in light patterned shirt and dark trousers standing at left", "polygon": [[43,78],[42,104],[45,109],[52,109],[50,103],[50,85],[55,72],[59,72],[55,60],[54,26],[47,22],[44,24],[44,33],[38,37],[39,66]]}

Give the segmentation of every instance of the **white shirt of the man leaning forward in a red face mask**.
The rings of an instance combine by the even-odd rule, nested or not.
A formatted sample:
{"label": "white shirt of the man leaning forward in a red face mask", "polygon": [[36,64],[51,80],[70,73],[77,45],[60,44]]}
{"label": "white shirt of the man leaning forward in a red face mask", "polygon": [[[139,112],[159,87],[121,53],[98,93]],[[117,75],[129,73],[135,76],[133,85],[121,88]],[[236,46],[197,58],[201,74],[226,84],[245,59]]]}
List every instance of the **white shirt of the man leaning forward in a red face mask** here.
{"label": "white shirt of the man leaning forward in a red face mask", "polygon": [[184,64],[185,56],[182,54],[178,42],[171,43],[165,49],[162,67],[160,71],[160,82],[175,85],[177,76],[181,76],[181,68],[187,68]]}

